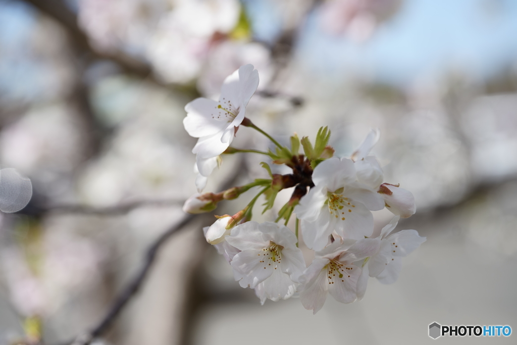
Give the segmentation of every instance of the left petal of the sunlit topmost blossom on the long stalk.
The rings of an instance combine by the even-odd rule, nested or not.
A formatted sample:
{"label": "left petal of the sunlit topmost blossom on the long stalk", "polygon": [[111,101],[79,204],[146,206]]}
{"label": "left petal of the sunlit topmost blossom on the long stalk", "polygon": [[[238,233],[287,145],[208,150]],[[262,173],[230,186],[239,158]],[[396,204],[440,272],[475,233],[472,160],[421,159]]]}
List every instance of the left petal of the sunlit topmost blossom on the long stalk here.
{"label": "left petal of the sunlit topmost blossom on the long stalk", "polygon": [[183,119],[189,136],[201,138],[224,130],[227,123],[218,121],[213,114],[218,110],[218,102],[208,98],[196,98],[185,106],[187,117]]}

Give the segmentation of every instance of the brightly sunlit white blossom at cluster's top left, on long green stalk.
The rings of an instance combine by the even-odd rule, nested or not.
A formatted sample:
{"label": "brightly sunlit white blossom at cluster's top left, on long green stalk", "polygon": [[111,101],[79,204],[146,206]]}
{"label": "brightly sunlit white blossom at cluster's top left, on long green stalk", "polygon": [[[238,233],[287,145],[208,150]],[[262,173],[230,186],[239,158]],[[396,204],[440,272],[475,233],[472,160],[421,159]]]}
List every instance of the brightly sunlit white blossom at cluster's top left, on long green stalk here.
{"label": "brightly sunlit white blossom at cluster's top left, on long green stalk", "polygon": [[199,138],[192,153],[197,155],[197,169],[202,176],[211,173],[215,168],[214,157],[232,143],[257,87],[257,70],[253,69],[253,65],[241,66],[224,80],[219,101],[200,97],[185,106],[187,117],[183,124],[190,136]]}

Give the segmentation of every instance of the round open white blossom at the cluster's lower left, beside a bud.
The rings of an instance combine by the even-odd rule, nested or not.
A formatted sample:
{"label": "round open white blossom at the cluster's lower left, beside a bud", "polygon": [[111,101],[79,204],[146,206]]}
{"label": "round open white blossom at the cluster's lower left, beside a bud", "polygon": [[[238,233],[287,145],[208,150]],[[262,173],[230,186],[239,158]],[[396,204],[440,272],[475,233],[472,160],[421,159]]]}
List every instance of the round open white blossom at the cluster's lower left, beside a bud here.
{"label": "round open white blossom at the cluster's lower left, beside a bud", "polygon": [[267,298],[278,301],[296,292],[305,261],[291,230],[273,222],[250,221],[233,228],[226,242],[241,250],[231,262],[236,280],[243,288],[255,289],[262,304]]}

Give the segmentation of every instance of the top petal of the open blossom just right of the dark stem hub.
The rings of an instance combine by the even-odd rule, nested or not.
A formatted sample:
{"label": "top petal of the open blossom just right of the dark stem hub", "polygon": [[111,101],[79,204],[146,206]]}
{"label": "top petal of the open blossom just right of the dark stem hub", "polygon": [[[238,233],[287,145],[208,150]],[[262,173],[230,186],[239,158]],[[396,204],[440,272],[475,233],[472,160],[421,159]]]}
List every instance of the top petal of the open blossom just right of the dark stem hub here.
{"label": "top petal of the open blossom just right of the dark stem hub", "polygon": [[354,162],[348,158],[332,157],[324,160],[312,173],[314,185],[326,186],[331,192],[354,182],[355,179]]}

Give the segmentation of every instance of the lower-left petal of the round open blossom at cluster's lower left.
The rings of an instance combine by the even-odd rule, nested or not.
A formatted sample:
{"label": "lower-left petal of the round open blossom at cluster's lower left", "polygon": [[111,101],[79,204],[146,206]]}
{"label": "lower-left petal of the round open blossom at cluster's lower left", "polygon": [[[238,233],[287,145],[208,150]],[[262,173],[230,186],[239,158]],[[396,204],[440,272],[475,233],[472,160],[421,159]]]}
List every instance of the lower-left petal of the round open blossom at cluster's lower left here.
{"label": "lower-left petal of the round open blossom at cluster's lower left", "polygon": [[258,283],[269,278],[275,267],[264,261],[262,250],[247,249],[239,252],[233,257],[231,265],[235,271],[242,275],[241,286],[249,286],[254,289]]}

